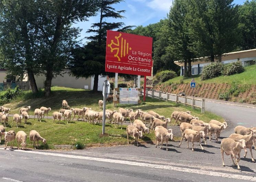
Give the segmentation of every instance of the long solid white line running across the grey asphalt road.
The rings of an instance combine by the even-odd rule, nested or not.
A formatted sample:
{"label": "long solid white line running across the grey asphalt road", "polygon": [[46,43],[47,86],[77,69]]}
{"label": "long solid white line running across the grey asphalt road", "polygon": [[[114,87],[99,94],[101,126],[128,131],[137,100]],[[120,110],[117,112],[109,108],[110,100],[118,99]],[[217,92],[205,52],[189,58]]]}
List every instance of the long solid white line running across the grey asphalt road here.
{"label": "long solid white line running across the grey asphalt road", "polygon": [[[182,171],[182,172],[188,172],[188,173],[194,173],[194,174],[210,175],[215,177],[231,178],[231,179],[238,179],[238,180],[256,181],[256,178],[252,176],[215,172],[215,171],[202,170],[202,169],[198,170],[198,169],[173,167],[170,165],[159,165],[159,164],[151,164],[151,163],[124,161],[124,160],[116,160],[116,159],[104,159],[104,158],[86,157],[86,156],[74,156],[74,155],[67,155],[67,154],[61,154],[61,153],[48,153],[48,152],[27,151],[27,150],[14,150],[14,151],[40,154],[40,155],[46,155],[46,156],[66,157],[66,158],[73,158],[73,159],[84,159],[84,160],[93,160],[93,161],[99,161],[99,162],[118,163],[118,164],[125,164],[125,165],[131,165],[131,166],[141,166],[141,167],[172,170],[172,171],[179,171],[179,172]],[[239,171],[237,170],[237,172]]]}

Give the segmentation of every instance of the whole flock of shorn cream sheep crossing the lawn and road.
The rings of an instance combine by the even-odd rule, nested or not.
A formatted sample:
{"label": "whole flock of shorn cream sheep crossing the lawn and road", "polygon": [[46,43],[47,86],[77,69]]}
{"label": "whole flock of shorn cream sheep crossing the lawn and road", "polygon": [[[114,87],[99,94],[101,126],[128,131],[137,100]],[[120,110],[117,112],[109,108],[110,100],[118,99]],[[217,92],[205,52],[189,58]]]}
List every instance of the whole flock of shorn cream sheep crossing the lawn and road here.
{"label": "whole flock of shorn cream sheep crossing the lawn and road", "polygon": [[[103,106],[103,101],[99,100],[98,102],[99,108],[101,109]],[[18,127],[19,124],[21,124],[21,120],[24,117],[25,119],[25,124],[27,120],[29,119],[29,110],[31,109],[31,106],[27,107],[22,107],[20,109],[20,115],[19,114],[14,114],[13,115],[13,124],[14,121],[16,122],[16,126]],[[10,108],[6,108],[3,106],[0,106],[0,121],[2,124],[8,123],[8,113],[10,112]],[[41,107],[40,109],[35,109],[34,111],[34,119],[35,116],[37,116],[38,121],[41,122],[41,119],[44,118],[44,115],[47,115],[48,118],[48,112],[51,111],[51,108],[47,107]],[[62,102],[62,109],[59,112],[53,112],[53,122],[57,119],[58,123],[64,117],[64,122],[65,118],[68,121],[71,119],[72,113],[74,114],[73,120],[78,115],[77,120],[79,120],[80,116],[83,121],[87,121],[89,123],[101,123],[102,122],[102,116],[103,116],[103,111],[97,112],[91,110],[91,108],[88,107],[82,107],[80,108],[70,108],[66,100],[63,100]],[[181,145],[183,139],[187,140],[187,147],[189,148],[189,142],[192,143],[192,151],[194,151],[194,142],[198,142],[199,145],[201,146],[201,149],[203,149],[201,145],[201,138],[203,138],[204,144],[206,144],[206,139],[207,139],[207,134],[209,135],[209,139],[211,140],[212,134],[215,134],[215,140],[218,142],[218,138],[220,137],[220,133],[223,129],[226,129],[227,123],[221,123],[216,120],[211,120],[209,123],[205,123],[201,120],[199,120],[198,117],[192,116],[190,111],[187,112],[178,112],[174,111],[171,114],[171,118],[165,118],[165,116],[161,116],[157,114],[154,111],[148,111],[148,112],[143,112],[141,109],[137,109],[135,112],[133,112],[133,109],[123,109],[120,108],[118,111],[111,111],[111,110],[106,110],[106,118],[109,119],[109,123],[115,124],[115,128],[119,127],[119,123],[121,123],[121,129],[122,129],[122,124],[123,122],[126,121],[126,118],[130,118],[131,125],[128,125],[126,127],[126,133],[127,133],[127,143],[129,144],[129,136],[132,136],[134,138],[134,142],[137,141],[137,146],[138,146],[138,138],[143,137],[146,133],[151,133],[152,129],[155,130],[155,137],[156,137],[156,147],[161,144],[161,147],[163,146],[163,143],[166,142],[166,150],[168,150],[168,141],[173,140],[173,134],[172,134],[172,129],[167,129],[168,123],[171,122],[172,118],[174,118],[176,121],[174,125],[177,123],[180,126],[180,131],[181,131],[181,140],[179,143],[179,146]],[[138,118],[141,118],[139,120]],[[180,123],[178,123],[180,121]],[[133,123],[132,123],[133,122]],[[117,124],[117,126],[116,126]],[[146,124],[149,124],[148,127],[146,127]],[[2,138],[2,135],[4,135],[4,140],[5,140],[5,148],[7,147],[7,144],[9,141],[13,141],[16,139],[18,143],[18,149],[26,149],[26,139],[27,135],[24,131],[19,131],[17,134],[13,130],[10,130],[9,132],[5,132],[5,128],[3,125],[0,125],[0,135]],[[44,144],[46,143],[46,139],[42,138],[38,132],[35,130],[31,130],[30,132],[30,140],[31,144],[32,141],[34,142],[34,147],[35,147],[35,141],[37,141],[37,146],[38,146],[38,140],[41,140]],[[237,165],[237,168],[240,169],[240,166],[238,164],[240,160],[240,153],[241,149],[245,150],[245,155],[246,157],[247,150],[246,148],[249,148],[252,156],[252,161],[253,159],[253,154],[252,154],[252,146],[255,146],[256,149],[256,127],[255,128],[246,128],[243,126],[237,126],[235,127],[235,133],[231,134],[229,138],[224,138],[221,141],[221,154],[222,154],[222,161],[223,161],[223,166],[224,160],[223,160],[223,155],[224,152],[226,155],[231,155],[231,159],[233,164]],[[1,141],[1,139],[0,139]],[[13,143],[11,145],[11,148],[13,148]],[[236,158],[238,156],[238,159]],[[234,163],[234,160],[236,163]]]}

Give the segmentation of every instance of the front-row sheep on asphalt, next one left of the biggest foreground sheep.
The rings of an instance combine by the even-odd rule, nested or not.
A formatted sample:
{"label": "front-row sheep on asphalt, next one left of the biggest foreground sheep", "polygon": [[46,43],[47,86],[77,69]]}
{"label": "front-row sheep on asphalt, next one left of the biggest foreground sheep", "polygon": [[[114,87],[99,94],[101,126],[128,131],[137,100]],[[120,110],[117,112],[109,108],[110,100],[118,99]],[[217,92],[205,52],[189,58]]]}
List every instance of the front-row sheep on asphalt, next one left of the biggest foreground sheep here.
{"label": "front-row sheep on asphalt, next one left of the biggest foreground sheep", "polygon": [[204,131],[197,132],[197,131],[194,131],[192,129],[185,129],[185,131],[183,132],[183,134],[181,136],[179,146],[181,145],[181,142],[182,142],[183,138],[186,138],[188,148],[189,148],[189,146],[188,146],[189,141],[192,142],[192,151],[194,151],[194,142],[199,142],[199,145],[201,146],[201,149],[204,150],[202,145],[201,145],[201,137],[203,139],[206,138],[206,135],[205,135]]}

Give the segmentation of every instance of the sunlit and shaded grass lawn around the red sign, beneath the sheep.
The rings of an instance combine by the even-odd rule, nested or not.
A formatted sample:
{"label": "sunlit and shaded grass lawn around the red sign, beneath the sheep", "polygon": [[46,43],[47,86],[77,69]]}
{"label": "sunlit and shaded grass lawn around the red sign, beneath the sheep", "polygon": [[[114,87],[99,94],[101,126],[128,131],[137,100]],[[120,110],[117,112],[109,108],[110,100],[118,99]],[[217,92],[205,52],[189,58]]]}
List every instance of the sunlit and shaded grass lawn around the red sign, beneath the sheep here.
{"label": "sunlit and shaded grass lawn around the red sign, beneath the sheep", "polygon": [[[49,115],[52,116],[54,111],[59,111],[62,107],[62,100],[67,100],[70,107],[78,107],[81,108],[83,106],[92,107],[92,110],[99,110],[98,100],[103,99],[102,93],[93,93],[92,91],[83,90],[83,89],[70,89],[64,87],[52,87],[52,96],[49,98],[43,98],[43,92],[41,91],[36,96],[39,98],[35,98],[30,91],[25,92],[23,96],[14,100],[9,104],[5,104],[4,106],[10,107],[12,114],[19,113],[19,109],[22,106],[30,105],[32,107],[29,115],[33,115],[34,109],[40,108],[41,106],[51,107],[52,111]],[[173,111],[188,111],[191,110],[191,107],[183,107],[177,106],[175,103],[159,101],[157,99],[147,98],[146,102],[138,105],[118,105],[118,107],[114,108],[113,104],[107,104],[107,109],[118,110],[120,107],[124,108],[132,108],[132,109],[142,109],[143,111],[153,110],[160,115],[164,115],[165,117],[170,117]],[[205,112],[201,114],[199,110],[193,110],[192,115],[198,116],[200,120],[205,122],[209,122],[210,120],[218,120],[224,122],[224,119],[220,116],[217,116],[213,113]],[[32,117],[32,116],[31,116]],[[128,122],[128,121],[127,121]],[[108,123],[108,122],[107,122]],[[174,121],[172,121],[174,123]],[[107,124],[105,127],[106,135],[102,136],[102,126],[99,124],[89,124],[87,122],[82,121],[71,121],[70,123],[63,123],[63,121],[58,123],[52,123],[52,119],[43,119],[42,122],[34,120],[30,118],[28,120],[28,124],[24,124],[24,120],[22,121],[22,125],[19,128],[16,128],[16,124],[14,123],[14,127],[12,125],[12,117],[9,117],[9,125],[6,127],[6,130],[14,130],[18,132],[19,130],[23,130],[27,135],[29,135],[30,130],[37,130],[41,134],[42,137],[46,138],[47,144],[52,148],[53,145],[74,145],[76,141],[79,141],[89,146],[97,146],[99,144],[106,145],[125,145],[127,144],[126,137],[126,125],[123,125],[123,129],[119,125],[119,128],[115,128],[113,124]],[[147,125],[148,126],[148,125]],[[132,140],[132,138],[130,137]],[[176,138],[178,139],[178,138]],[[139,139],[139,141],[147,141],[151,142],[155,140],[154,132],[152,134],[146,134],[143,139]],[[2,139],[1,144],[4,143]],[[41,143],[41,141],[40,141]],[[29,137],[27,139],[27,144],[30,144]],[[16,141],[15,141],[16,146]]]}

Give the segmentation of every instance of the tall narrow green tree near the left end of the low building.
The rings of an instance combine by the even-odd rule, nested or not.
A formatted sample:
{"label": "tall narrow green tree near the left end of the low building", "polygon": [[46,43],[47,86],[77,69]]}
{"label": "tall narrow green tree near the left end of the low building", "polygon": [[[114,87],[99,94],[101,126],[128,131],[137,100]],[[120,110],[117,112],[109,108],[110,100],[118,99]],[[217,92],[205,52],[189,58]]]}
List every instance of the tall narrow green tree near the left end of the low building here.
{"label": "tall narrow green tree near the left end of the low building", "polygon": [[[169,45],[166,48],[170,57],[184,62],[184,77],[191,76],[193,52],[189,49],[191,39],[188,32],[188,0],[174,0],[168,14]],[[187,69],[188,64],[188,69]]]}

